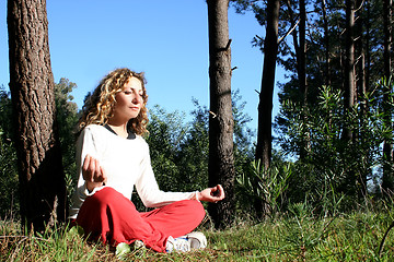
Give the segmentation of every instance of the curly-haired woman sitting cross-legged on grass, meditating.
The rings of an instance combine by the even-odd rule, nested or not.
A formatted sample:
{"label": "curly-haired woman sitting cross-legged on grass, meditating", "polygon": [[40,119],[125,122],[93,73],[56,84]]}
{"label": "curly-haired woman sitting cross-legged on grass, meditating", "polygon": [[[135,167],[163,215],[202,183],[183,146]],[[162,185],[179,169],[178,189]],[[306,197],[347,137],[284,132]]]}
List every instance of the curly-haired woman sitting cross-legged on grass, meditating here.
{"label": "curly-haired woman sitting cross-legged on grass, meditating", "polygon": [[[77,142],[80,177],[70,218],[93,239],[116,246],[142,241],[159,252],[189,250],[179,238],[202,221],[199,201],[224,198],[220,184],[201,192],[163,192],[154,178],[147,133],[147,91],[142,73],[118,69],[106,75],[83,107]],[[151,212],[139,213],[134,188]],[[185,240],[186,239],[186,240]]]}

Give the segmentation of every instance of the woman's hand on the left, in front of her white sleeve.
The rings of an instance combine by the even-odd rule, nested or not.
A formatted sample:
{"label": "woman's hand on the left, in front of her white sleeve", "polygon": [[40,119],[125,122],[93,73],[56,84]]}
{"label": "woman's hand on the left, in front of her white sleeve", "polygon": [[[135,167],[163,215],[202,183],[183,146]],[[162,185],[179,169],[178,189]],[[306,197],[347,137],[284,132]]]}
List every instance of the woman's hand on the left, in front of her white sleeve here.
{"label": "woman's hand on the left, in front of her white sleeve", "polygon": [[96,158],[86,155],[83,160],[82,176],[86,181],[86,188],[89,192],[92,192],[94,188],[102,187],[106,182],[106,174]]}

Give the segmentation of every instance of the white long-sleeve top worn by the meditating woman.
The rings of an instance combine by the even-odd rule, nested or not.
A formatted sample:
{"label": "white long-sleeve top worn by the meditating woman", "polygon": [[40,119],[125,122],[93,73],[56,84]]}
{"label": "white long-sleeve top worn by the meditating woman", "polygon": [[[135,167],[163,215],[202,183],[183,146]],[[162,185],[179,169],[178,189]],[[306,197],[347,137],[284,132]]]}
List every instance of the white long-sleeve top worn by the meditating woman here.
{"label": "white long-sleeve top worn by the meditating woman", "polygon": [[[105,186],[86,189],[82,177],[82,165],[86,154],[96,158],[104,168]],[[164,192],[159,189],[151,167],[148,143],[140,135],[121,138],[103,126],[90,124],[83,129],[77,141],[77,167],[79,180],[72,196],[69,218],[77,218],[86,196],[105,187],[112,187],[131,200],[134,187],[147,207],[160,207],[172,202],[196,199],[196,192]]]}

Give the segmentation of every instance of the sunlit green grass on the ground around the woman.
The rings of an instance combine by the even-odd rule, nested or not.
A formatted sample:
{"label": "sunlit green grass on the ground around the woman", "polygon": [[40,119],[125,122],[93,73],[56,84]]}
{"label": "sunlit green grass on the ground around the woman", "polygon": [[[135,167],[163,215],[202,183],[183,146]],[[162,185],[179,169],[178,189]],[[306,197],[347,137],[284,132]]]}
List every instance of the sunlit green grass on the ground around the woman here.
{"label": "sunlit green grass on the ground around the woman", "polygon": [[163,254],[137,250],[117,259],[114,250],[88,243],[77,230],[55,228],[22,234],[13,221],[0,222],[0,261],[392,261],[394,230],[390,213],[355,212],[313,218],[303,206],[280,218],[240,223],[227,230],[201,229],[208,248]]}

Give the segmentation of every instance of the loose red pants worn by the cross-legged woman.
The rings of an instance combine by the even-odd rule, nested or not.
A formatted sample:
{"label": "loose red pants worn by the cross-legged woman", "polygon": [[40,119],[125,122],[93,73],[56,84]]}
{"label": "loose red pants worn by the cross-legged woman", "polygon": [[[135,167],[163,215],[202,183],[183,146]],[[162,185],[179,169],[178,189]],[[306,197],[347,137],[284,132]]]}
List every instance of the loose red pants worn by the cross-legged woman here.
{"label": "loose red pants worn by the cross-legged woman", "polygon": [[197,200],[177,201],[150,212],[138,212],[134,203],[112,188],[104,188],[83,202],[77,217],[90,238],[104,243],[142,240],[155,251],[165,252],[166,239],[193,231],[204,219]]}

